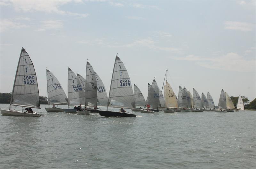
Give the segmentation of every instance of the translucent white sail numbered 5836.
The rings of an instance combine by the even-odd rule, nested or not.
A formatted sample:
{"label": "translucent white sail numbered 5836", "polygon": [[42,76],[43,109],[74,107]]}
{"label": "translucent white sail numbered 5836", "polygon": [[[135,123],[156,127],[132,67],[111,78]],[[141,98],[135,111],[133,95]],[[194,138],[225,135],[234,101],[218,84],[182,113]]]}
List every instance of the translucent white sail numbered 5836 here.
{"label": "translucent white sail numbered 5836", "polygon": [[84,105],[84,89],[76,74],[68,68],[68,105]]}

